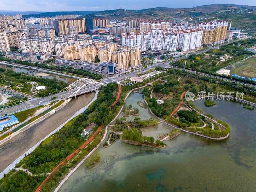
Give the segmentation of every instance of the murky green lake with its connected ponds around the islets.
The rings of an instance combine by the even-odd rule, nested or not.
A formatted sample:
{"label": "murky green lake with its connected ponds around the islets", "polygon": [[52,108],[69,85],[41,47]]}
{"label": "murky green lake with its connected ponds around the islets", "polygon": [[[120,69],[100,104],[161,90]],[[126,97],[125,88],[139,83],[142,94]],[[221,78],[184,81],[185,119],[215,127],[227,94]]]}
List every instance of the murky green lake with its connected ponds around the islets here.
{"label": "murky green lake with its connected ponds around the islets", "polygon": [[[137,107],[142,119],[146,114],[150,118],[148,108],[136,103],[142,97],[132,93],[125,104]],[[82,164],[59,191],[256,191],[256,110],[236,102],[216,102],[213,107],[205,107],[203,101],[194,104],[230,125],[228,139],[210,140],[181,132],[164,141],[167,147],[162,149],[117,140],[110,147],[99,147],[100,162],[90,170]],[[161,123],[142,130],[142,135],[156,139],[171,129]]]}

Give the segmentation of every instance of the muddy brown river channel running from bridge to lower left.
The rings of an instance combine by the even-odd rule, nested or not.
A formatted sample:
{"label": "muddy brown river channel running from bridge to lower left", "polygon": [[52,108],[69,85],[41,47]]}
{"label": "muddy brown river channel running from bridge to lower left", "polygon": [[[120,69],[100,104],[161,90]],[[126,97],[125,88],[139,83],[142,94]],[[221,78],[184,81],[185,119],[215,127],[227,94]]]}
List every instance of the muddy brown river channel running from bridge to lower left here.
{"label": "muddy brown river channel running from bridge to lower left", "polygon": [[86,106],[93,99],[94,95],[95,93],[92,92],[76,97],[76,99],[72,99],[67,105],[52,116],[30,127],[28,130],[20,133],[20,135],[2,145],[0,147],[0,172],[73,116],[79,109]]}

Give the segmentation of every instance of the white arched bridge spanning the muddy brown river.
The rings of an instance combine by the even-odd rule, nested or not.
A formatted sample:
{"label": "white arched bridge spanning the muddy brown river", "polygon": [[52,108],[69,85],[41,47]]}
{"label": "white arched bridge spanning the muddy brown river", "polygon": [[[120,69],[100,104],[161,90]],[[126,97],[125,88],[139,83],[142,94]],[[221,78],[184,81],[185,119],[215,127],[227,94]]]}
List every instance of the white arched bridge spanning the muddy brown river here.
{"label": "white arched bridge spanning the muddy brown river", "polygon": [[[85,87],[88,87],[88,85],[104,85],[106,86],[106,84],[103,84],[103,83],[100,83],[98,81],[95,81],[93,79],[87,79],[87,78],[84,78],[84,79],[78,79],[77,81],[73,82],[72,84],[68,85],[68,87],[66,87],[66,89],[76,89],[75,92],[73,92],[69,97],[75,97],[76,98],[76,95],[79,95],[79,91],[81,91],[81,89],[84,89]],[[97,87],[92,87],[92,89],[88,89],[87,92],[91,92],[91,91],[94,91],[96,89],[99,89],[100,86],[97,86]],[[83,92],[85,93],[85,92]]]}

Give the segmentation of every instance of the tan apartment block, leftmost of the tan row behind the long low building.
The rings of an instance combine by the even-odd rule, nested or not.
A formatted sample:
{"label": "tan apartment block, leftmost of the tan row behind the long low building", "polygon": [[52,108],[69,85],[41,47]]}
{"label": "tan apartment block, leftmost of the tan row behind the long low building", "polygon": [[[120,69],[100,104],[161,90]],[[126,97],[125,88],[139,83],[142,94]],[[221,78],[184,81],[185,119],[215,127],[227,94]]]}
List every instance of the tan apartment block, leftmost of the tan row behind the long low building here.
{"label": "tan apartment block, leftmost of the tan row behind the long low building", "polygon": [[74,43],[62,44],[62,51],[65,59],[81,59],[80,50]]}

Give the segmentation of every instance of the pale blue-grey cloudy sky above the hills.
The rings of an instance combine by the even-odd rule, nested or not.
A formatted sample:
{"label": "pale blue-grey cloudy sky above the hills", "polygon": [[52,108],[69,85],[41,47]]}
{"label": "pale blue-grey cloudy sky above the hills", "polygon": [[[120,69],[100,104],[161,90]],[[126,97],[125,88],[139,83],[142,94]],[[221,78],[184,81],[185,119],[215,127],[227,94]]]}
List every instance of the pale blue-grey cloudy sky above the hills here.
{"label": "pale blue-grey cloudy sky above the hills", "polygon": [[147,9],[154,7],[191,8],[205,4],[238,4],[256,6],[255,0],[0,0],[0,10],[13,11],[102,11],[119,9]]}

